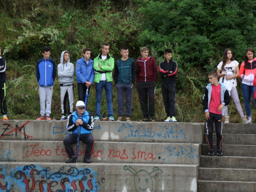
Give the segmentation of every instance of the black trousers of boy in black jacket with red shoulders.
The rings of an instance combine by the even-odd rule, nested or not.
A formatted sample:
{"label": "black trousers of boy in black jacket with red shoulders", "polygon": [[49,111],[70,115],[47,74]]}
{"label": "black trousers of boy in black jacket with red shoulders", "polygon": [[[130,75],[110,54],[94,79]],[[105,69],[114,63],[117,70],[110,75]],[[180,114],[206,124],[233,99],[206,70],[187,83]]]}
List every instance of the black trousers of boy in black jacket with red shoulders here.
{"label": "black trousers of boy in black jacket with red shoulders", "polygon": [[163,104],[167,117],[175,117],[175,82],[162,82]]}

